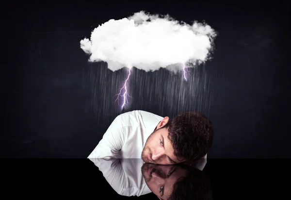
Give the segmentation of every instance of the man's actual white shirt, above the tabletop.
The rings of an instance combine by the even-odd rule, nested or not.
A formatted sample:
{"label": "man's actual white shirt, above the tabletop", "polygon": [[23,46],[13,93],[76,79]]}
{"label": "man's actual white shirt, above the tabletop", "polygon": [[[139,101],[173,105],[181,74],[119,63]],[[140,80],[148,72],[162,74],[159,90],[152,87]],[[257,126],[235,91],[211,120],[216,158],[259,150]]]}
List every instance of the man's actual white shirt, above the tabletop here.
{"label": "man's actual white shirt, above the tabletop", "polygon": [[[141,110],[117,116],[88,158],[140,159],[146,139],[162,119],[163,117]],[[202,161],[206,162],[206,158],[207,154]],[[202,163],[204,166],[205,164]]]}

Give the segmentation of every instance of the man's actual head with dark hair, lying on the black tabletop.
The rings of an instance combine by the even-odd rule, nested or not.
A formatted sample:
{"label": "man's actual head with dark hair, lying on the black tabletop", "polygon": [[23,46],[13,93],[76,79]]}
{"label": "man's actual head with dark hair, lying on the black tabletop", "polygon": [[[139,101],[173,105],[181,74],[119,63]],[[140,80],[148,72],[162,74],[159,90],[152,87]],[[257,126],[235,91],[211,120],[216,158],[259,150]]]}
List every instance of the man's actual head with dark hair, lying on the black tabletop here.
{"label": "man's actual head with dark hair, lying on the black tabletop", "polygon": [[196,161],[207,154],[212,141],[212,123],[201,113],[164,117],[147,138],[142,159],[160,165]]}

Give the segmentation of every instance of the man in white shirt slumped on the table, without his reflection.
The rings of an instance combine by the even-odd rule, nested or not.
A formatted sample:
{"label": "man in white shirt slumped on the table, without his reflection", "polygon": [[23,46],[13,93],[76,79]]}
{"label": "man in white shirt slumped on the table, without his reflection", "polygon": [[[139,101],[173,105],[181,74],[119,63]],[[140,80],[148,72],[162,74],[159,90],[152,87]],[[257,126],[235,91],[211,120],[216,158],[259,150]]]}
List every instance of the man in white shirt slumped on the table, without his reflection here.
{"label": "man in white shirt slumped on the table, without his reflection", "polygon": [[88,158],[142,158],[171,165],[206,158],[212,140],[211,121],[201,113],[169,118],[135,110],[113,120]]}

